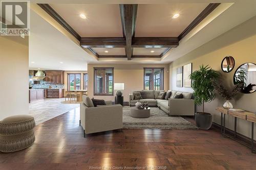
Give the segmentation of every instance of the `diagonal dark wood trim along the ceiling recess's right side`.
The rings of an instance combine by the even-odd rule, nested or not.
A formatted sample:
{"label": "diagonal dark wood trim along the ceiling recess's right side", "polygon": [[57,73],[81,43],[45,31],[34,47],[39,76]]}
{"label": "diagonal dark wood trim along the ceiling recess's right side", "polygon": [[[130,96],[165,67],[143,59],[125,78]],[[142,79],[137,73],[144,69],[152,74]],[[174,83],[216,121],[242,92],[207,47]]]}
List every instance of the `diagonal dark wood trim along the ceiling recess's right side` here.
{"label": "diagonal dark wood trim along the ceiling recess's right side", "polygon": [[194,19],[185,30],[179,35],[179,41],[184,38],[191,30],[193,30],[207,15],[215,10],[220,3],[209,4],[197,17]]}

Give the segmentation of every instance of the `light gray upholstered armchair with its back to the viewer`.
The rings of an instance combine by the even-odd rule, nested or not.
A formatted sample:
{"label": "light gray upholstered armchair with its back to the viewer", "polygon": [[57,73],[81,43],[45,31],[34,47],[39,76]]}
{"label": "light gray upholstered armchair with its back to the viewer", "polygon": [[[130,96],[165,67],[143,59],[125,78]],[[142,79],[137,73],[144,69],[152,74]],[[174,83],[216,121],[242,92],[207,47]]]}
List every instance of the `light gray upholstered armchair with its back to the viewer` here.
{"label": "light gray upholstered armchair with its back to the viewer", "polygon": [[111,105],[111,101],[106,101],[107,105],[94,107],[92,100],[82,96],[83,102],[80,104],[80,126],[85,134],[103,132],[123,128],[123,108],[121,105]]}

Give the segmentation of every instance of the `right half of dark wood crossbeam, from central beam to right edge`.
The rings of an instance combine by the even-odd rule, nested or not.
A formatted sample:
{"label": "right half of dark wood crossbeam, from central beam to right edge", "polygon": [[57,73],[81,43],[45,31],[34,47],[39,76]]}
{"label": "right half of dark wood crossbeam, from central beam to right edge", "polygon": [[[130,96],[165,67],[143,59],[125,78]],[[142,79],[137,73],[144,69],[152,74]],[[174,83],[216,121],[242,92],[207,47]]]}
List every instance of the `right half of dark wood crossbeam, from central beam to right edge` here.
{"label": "right half of dark wood crossbeam, from central beam to right edge", "polygon": [[177,47],[178,37],[135,37],[133,47]]}

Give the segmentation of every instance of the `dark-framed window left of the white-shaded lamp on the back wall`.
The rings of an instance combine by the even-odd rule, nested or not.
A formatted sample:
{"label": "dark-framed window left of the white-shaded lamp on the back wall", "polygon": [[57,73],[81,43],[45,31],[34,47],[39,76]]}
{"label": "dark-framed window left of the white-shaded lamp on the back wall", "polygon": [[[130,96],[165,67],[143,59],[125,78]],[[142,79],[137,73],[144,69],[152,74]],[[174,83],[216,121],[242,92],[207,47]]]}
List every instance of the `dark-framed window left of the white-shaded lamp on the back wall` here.
{"label": "dark-framed window left of the white-shaded lamp on the back wall", "polygon": [[114,68],[94,68],[94,95],[113,95]]}

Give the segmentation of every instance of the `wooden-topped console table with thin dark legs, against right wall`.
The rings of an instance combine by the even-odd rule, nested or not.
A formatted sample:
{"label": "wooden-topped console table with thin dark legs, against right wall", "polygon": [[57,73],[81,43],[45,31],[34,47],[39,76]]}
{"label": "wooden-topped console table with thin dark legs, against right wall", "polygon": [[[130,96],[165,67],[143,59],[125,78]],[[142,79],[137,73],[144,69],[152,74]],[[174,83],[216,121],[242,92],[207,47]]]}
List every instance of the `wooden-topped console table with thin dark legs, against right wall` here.
{"label": "wooden-topped console table with thin dark legs, against right wall", "polygon": [[[237,118],[241,118],[241,119],[251,122],[251,146],[250,147],[248,147],[247,145],[245,145],[245,146],[250,148],[252,153],[256,153],[254,150],[254,147],[253,147],[253,128],[254,128],[253,126],[254,126],[254,123],[256,123],[256,114],[247,112],[247,111],[243,111],[243,112],[231,111],[231,110],[225,109],[223,107],[217,107],[216,110],[221,113],[221,133],[223,134],[224,137],[230,137],[230,136],[225,135],[226,114],[234,117],[234,136],[230,137],[232,139],[235,139],[237,137]],[[224,114],[224,118],[222,118],[223,114]],[[223,119],[224,119],[224,121],[222,121]],[[224,122],[224,123],[222,123],[222,122]]]}

